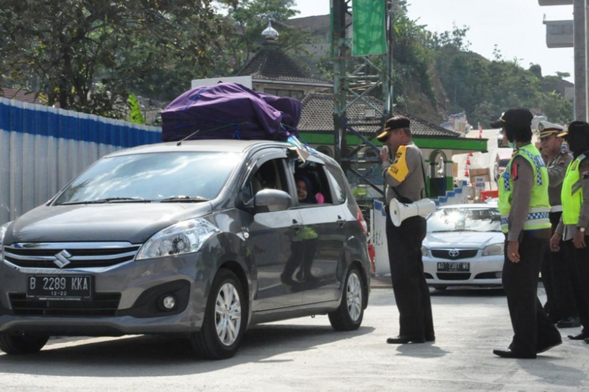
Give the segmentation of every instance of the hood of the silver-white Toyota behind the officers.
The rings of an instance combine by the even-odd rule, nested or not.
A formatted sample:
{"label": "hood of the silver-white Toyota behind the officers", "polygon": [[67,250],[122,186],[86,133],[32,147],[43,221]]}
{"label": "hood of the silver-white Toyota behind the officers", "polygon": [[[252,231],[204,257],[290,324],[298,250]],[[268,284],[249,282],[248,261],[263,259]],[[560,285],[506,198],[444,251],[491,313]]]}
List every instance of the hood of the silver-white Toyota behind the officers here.
{"label": "hood of the silver-white Toyota behind the officers", "polygon": [[428,249],[482,249],[504,240],[505,234],[501,232],[439,232],[428,233],[423,245]]}

